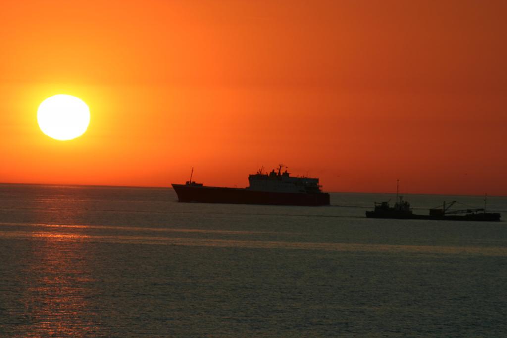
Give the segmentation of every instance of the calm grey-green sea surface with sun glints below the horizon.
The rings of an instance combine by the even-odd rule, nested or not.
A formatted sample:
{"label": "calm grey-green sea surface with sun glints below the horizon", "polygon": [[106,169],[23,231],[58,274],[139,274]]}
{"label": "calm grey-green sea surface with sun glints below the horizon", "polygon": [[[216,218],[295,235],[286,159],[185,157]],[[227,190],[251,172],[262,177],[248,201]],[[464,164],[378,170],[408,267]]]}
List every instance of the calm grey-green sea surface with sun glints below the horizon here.
{"label": "calm grey-green sea surface with sun glints below the horizon", "polygon": [[[0,336],[506,336],[507,223],[364,217],[389,198],[0,184]],[[507,218],[507,198],[488,208]]]}

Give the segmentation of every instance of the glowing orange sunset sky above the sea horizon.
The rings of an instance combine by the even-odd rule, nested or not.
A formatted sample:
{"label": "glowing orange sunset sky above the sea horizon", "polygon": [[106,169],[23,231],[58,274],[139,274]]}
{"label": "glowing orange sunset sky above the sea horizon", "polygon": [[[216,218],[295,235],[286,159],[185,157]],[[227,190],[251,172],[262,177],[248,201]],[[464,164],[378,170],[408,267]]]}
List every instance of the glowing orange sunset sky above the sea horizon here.
{"label": "glowing orange sunset sky above the sea horizon", "polygon": [[[3,1],[0,181],[507,195],[505,1]],[[90,107],[57,141],[37,107]]]}

